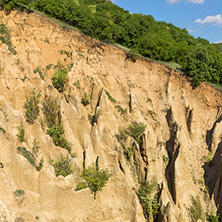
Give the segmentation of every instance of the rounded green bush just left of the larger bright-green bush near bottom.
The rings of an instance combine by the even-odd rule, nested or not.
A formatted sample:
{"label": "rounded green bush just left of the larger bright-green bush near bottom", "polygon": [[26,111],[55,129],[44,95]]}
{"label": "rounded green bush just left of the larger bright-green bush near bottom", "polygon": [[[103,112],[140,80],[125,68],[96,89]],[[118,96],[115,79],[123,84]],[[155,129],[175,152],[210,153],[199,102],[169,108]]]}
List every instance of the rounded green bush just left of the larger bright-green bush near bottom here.
{"label": "rounded green bush just left of the larger bright-green bush near bottom", "polygon": [[68,176],[69,174],[73,173],[72,165],[71,165],[71,159],[69,159],[68,155],[61,156],[55,161],[53,164],[54,171],[56,176],[62,175],[63,177]]}

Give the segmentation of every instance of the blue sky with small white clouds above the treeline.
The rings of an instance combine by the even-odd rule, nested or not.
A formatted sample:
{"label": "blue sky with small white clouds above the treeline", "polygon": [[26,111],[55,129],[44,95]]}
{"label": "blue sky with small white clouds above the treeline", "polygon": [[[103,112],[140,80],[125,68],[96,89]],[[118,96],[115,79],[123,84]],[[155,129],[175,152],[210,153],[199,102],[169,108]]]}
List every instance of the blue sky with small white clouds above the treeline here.
{"label": "blue sky with small white clouds above the treeline", "polygon": [[113,0],[130,11],[185,28],[194,37],[222,42],[222,0]]}

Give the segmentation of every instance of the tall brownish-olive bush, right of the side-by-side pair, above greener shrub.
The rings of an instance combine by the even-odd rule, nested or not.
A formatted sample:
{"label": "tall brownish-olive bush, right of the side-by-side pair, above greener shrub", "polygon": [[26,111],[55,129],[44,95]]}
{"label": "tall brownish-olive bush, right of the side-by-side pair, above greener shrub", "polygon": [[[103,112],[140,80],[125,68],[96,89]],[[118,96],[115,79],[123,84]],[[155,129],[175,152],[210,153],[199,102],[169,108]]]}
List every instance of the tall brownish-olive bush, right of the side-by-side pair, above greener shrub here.
{"label": "tall brownish-olive bush, right of the side-by-side pair, above greener shrub", "polygon": [[58,122],[58,113],[60,106],[57,104],[56,99],[45,97],[43,104],[43,115],[46,125],[50,128]]}

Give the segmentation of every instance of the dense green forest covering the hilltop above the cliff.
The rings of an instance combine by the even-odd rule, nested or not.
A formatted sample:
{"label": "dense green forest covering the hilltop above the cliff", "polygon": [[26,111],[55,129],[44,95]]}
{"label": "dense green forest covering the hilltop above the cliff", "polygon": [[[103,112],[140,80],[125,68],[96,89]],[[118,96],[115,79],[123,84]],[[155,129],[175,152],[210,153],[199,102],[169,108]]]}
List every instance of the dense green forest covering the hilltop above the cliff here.
{"label": "dense green forest covering the hilltop above the cliff", "polygon": [[128,47],[132,55],[178,63],[195,87],[202,81],[222,83],[221,46],[151,15],[131,14],[108,0],[0,0],[0,6],[8,13],[35,9],[88,36]]}

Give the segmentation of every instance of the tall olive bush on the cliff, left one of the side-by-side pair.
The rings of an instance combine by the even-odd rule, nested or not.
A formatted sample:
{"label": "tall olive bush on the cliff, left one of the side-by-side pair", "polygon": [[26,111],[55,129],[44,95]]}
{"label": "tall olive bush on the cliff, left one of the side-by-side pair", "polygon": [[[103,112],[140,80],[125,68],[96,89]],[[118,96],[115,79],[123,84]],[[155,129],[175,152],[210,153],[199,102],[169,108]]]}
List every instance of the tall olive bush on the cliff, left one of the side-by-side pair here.
{"label": "tall olive bush on the cliff, left one of the side-by-side pair", "polygon": [[30,95],[26,96],[26,102],[24,108],[26,109],[25,111],[26,121],[29,124],[33,124],[39,115],[40,97],[41,93],[37,92],[36,89],[33,89]]}

